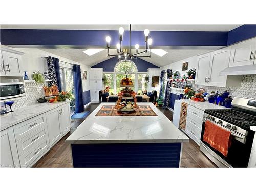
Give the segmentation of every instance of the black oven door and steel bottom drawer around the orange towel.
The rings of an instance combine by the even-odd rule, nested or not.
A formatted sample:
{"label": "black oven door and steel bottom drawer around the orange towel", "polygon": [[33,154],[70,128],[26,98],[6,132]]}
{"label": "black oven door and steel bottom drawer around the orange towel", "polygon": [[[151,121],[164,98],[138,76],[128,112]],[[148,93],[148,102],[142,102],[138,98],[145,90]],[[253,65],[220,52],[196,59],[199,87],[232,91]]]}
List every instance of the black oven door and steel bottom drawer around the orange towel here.
{"label": "black oven door and steel bottom drawer around the orange towel", "polygon": [[[246,136],[232,133],[230,130],[232,141],[231,146],[228,149],[227,157],[225,157],[219,151],[215,150],[215,148],[212,148],[207,142],[203,141],[206,120],[208,119],[203,119],[200,150],[218,167],[247,167],[251,148],[250,139]],[[223,128],[221,125],[219,126]]]}

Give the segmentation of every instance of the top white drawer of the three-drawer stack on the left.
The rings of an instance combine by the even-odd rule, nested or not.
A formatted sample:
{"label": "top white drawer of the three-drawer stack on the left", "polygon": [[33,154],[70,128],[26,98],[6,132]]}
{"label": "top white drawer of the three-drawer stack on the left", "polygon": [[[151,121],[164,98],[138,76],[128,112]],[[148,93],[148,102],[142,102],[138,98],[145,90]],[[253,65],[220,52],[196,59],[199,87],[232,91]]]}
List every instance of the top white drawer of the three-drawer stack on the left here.
{"label": "top white drawer of the three-drawer stack on the left", "polygon": [[14,125],[13,130],[14,130],[16,141],[18,141],[19,139],[22,139],[23,137],[26,137],[27,135],[31,134],[33,131],[45,125],[47,125],[45,114],[38,115],[22,123],[18,123]]}

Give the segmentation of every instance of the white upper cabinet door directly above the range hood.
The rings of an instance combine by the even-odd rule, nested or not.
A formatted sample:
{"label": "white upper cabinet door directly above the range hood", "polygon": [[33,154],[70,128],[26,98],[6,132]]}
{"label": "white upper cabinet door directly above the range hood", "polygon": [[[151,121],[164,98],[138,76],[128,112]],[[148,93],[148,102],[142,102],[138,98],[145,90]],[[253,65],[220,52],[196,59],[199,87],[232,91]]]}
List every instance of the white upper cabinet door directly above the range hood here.
{"label": "white upper cabinet door directly above the range hood", "polygon": [[256,39],[231,46],[229,67],[251,65],[255,59]]}

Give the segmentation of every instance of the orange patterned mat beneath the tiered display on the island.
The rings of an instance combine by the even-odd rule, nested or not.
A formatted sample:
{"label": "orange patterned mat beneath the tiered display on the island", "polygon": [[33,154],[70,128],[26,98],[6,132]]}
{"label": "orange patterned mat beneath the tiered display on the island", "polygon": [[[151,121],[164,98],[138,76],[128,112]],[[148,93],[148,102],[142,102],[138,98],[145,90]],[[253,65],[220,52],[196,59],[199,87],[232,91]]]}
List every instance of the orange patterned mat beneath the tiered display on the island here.
{"label": "orange patterned mat beneath the tiered display on the island", "polygon": [[117,111],[115,106],[102,106],[95,116],[157,116],[150,106],[138,106],[138,108],[130,113],[122,113]]}

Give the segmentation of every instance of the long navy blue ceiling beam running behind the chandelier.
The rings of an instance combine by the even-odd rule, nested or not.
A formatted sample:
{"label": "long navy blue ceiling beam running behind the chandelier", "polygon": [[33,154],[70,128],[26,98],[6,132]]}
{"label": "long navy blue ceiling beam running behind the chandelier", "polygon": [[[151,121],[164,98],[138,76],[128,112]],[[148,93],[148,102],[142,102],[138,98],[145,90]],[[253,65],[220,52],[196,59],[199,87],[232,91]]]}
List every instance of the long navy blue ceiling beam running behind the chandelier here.
{"label": "long navy blue ceiling beam running behind the chandelier", "polygon": [[[118,31],[105,30],[36,30],[1,29],[2,45],[38,46],[106,46],[105,37],[111,37],[111,45],[118,42]],[[225,46],[228,32],[213,31],[151,31],[153,46]],[[132,45],[144,45],[143,31],[132,31]],[[129,45],[129,31],[123,35],[123,45]]]}

